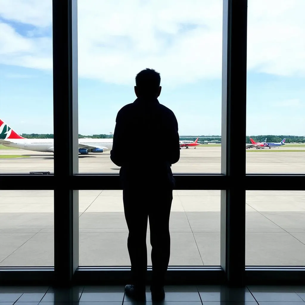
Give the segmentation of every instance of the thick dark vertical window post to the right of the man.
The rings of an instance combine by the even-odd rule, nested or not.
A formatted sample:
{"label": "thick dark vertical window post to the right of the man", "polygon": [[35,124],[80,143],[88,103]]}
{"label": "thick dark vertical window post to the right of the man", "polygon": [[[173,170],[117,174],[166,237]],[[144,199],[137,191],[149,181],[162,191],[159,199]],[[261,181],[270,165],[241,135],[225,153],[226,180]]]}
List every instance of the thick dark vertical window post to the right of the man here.
{"label": "thick dark vertical window post to the right of the man", "polygon": [[221,265],[232,285],[245,278],[247,0],[224,0],[221,172]]}

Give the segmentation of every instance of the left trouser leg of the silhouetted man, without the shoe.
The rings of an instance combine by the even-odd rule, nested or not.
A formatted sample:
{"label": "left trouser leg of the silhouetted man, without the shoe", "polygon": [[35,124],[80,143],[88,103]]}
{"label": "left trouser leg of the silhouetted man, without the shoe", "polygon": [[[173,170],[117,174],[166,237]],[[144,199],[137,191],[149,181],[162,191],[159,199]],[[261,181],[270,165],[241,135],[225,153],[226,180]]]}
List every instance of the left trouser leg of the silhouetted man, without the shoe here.
{"label": "left trouser leg of the silhouetted man, without the shoe", "polygon": [[145,288],[147,271],[146,231],[148,212],[139,189],[123,190],[124,213],[128,227],[127,248],[131,262],[132,284]]}

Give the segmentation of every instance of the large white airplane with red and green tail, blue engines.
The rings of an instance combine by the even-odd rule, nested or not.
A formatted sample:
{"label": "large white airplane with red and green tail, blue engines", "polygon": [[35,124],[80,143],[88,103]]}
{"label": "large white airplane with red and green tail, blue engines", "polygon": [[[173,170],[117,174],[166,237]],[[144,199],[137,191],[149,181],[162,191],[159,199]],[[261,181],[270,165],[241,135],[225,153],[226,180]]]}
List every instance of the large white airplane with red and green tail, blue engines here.
{"label": "large white airplane with red and green tail, blue engines", "polygon": [[[0,120],[0,144],[37,152],[54,152],[53,139],[27,139],[18,135],[12,128]],[[113,139],[78,139],[78,153],[105,152],[112,149]]]}

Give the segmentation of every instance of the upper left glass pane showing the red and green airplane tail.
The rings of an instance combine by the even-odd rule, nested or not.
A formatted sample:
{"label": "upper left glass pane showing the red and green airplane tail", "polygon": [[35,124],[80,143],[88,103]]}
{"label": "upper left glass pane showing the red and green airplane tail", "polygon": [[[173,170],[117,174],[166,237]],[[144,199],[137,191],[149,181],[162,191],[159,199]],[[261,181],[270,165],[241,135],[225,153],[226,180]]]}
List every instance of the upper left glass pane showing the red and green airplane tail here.
{"label": "upper left glass pane showing the red and green airplane tail", "polygon": [[1,1],[0,33],[0,172],[52,172],[52,0]]}

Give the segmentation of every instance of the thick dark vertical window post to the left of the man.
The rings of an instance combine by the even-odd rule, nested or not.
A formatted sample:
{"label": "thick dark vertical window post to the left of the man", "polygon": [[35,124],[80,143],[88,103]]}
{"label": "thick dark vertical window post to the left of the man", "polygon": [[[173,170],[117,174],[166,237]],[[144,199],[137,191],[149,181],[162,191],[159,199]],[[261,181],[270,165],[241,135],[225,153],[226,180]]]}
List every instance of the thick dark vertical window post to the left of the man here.
{"label": "thick dark vertical window post to the left of the man", "polygon": [[53,0],[53,107],[55,282],[69,285],[78,267],[77,0]]}

